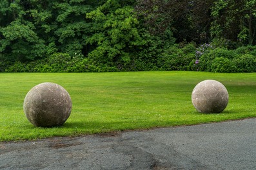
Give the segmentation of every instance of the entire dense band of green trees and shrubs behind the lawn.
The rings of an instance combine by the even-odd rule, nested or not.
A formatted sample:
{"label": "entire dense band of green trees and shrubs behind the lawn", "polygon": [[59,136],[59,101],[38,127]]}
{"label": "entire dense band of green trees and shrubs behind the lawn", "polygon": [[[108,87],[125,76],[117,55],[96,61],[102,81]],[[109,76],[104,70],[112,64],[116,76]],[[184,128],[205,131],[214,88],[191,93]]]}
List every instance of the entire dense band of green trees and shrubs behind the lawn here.
{"label": "entire dense band of green trees and shrubs behind the lawn", "polygon": [[255,0],[1,0],[0,72],[256,72]]}

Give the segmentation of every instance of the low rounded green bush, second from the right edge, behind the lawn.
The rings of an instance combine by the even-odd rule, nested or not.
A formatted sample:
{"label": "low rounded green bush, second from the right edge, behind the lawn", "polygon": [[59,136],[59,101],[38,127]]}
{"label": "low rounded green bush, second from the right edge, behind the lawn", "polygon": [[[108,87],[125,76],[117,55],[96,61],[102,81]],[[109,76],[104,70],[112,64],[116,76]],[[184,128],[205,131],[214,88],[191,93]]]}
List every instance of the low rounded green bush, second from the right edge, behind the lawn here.
{"label": "low rounded green bush, second from the right edge, behind the lawn", "polygon": [[217,57],[211,65],[212,72],[236,72],[236,67],[231,60],[224,57]]}

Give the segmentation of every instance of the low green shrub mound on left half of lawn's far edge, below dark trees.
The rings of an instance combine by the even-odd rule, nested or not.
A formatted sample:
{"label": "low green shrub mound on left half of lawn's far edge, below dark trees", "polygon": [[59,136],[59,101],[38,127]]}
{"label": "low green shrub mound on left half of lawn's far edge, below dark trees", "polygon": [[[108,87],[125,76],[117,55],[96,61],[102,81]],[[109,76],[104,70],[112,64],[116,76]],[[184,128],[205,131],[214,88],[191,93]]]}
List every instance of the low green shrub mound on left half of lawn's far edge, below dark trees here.
{"label": "low green shrub mound on left half of lawn's far edge, below dark trees", "polygon": [[[1,66],[0,62],[0,66]],[[0,67],[1,68],[1,67]],[[97,67],[81,55],[71,57],[67,53],[54,53],[35,62],[14,62],[2,67],[5,72],[110,72],[116,67]]]}

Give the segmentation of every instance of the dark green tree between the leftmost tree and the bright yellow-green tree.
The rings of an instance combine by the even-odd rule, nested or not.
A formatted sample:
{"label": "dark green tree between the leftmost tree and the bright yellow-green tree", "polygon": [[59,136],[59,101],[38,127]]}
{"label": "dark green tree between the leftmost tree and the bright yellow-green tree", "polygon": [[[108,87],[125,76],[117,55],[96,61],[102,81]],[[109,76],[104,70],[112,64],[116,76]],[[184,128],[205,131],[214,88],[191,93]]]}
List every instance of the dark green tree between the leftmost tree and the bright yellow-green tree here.
{"label": "dark green tree between the leftmost tree and the bright yellow-green tree", "polygon": [[[91,12],[94,7],[88,1],[58,1],[53,3],[52,13],[57,15],[52,22],[52,33],[54,33],[55,44],[62,53],[75,55],[75,53],[87,53],[86,38],[90,35],[92,24],[86,20],[86,13]],[[46,30],[48,26],[45,27]],[[49,30],[50,31],[50,30]]]}

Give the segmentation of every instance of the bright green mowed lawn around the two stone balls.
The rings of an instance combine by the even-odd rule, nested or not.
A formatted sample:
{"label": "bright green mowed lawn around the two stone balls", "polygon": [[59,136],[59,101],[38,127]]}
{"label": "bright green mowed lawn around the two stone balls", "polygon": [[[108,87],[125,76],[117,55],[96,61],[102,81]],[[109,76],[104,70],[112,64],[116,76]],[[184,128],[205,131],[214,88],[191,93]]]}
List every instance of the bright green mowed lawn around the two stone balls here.
{"label": "bright green mowed lawn around the two stone balls", "polygon": [[[201,114],[191,101],[202,80],[217,80],[230,95],[221,114]],[[26,93],[43,82],[57,83],[72,98],[63,126],[34,127],[23,112]],[[104,72],[1,73],[0,141],[77,136],[122,130],[212,123],[256,117],[256,73]]]}

